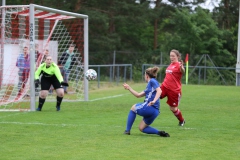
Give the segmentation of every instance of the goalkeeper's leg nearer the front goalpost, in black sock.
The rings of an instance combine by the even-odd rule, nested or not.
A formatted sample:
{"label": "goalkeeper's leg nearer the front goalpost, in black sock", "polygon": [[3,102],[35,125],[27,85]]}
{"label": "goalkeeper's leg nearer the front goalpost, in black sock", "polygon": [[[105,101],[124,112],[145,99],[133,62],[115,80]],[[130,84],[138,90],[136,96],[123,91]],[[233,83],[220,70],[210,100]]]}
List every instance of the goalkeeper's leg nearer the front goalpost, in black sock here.
{"label": "goalkeeper's leg nearer the front goalpost, in black sock", "polygon": [[51,82],[48,78],[42,77],[41,79],[41,91],[39,93],[39,102],[38,102],[38,108],[37,111],[41,111],[43,104],[45,103],[46,97],[48,95],[48,90],[51,86]]}

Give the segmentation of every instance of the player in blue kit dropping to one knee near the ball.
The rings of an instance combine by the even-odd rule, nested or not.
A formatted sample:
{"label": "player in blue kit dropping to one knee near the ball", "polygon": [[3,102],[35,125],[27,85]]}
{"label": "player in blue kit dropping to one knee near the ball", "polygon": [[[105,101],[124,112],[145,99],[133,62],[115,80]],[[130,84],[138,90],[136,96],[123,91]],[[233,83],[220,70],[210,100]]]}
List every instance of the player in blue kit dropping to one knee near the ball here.
{"label": "player in blue kit dropping to one knee near the ball", "polygon": [[133,90],[128,84],[124,83],[123,87],[129,90],[135,97],[140,98],[145,96],[144,102],[134,104],[128,114],[127,127],[124,134],[130,135],[130,130],[135,121],[136,115],[142,116],[143,119],[139,124],[139,130],[146,134],[156,134],[161,137],[170,137],[165,131],[157,130],[150,126],[159,115],[161,89],[156,80],[158,67],[148,68],[145,71],[145,81],[147,87],[142,92]]}

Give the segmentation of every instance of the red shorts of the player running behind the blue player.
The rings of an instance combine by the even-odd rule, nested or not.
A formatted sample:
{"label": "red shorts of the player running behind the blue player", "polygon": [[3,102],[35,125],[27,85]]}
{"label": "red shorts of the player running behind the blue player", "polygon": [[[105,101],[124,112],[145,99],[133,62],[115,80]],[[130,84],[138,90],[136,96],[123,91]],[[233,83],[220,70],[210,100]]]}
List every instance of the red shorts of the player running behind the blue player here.
{"label": "red shorts of the player running behind the blue player", "polygon": [[165,97],[167,97],[167,104],[170,107],[177,107],[180,103],[180,99],[182,97],[182,92],[174,92],[172,90],[167,89],[164,86],[160,86],[161,90],[162,90],[162,94],[160,96],[160,99],[163,99]]}

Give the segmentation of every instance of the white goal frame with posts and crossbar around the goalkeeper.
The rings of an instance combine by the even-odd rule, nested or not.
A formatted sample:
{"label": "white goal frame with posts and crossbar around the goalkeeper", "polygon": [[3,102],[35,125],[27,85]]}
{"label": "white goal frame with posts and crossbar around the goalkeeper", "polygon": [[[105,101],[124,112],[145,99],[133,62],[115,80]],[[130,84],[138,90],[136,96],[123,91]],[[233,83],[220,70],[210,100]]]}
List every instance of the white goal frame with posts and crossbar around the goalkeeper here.
{"label": "white goal frame with posts and crossbar around the goalkeeper", "polygon": [[[35,88],[34,84],[34,73],[35,73],[35,10],[43,10],[46,12],[56,13],[64,16],[69,16],[73,18],[81,18],[83,19],[83,40],[84,40],[84,60],[83,60],[83,66],[84,66],[84,73],[88,70],[89,65],[89,46],[88,46],[88,16],[73,12],[67,12],[63,10],[58,10],[54,8],[49,8],[45,6],[40,6],[36,4],[30,4],[30,5],[4,5],[1,6],[2,8],[2,24],[1,24],[1,64],[3,63],[3,53],[4,53],[4,41],[5,41],[5,9],[11,8],[11,7],[29,7],[29,53],[30,53],[30,88]],[[3,76],[3,75],[0,75]],[[84,77],[84,101],[88,101],[88,80]],[[35,103],[36,103],[36,96],[35,96],[35,89],[30,90],[30,111],[35,111]]]}

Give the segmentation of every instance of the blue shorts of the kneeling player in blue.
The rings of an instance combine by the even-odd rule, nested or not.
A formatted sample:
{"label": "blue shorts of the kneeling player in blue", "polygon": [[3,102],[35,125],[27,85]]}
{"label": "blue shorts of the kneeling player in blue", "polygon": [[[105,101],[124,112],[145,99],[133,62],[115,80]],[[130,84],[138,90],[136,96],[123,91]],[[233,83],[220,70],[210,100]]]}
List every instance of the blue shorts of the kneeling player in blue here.
{"label": "blue shorts of the kneeling player in blue", "polygon": [[143,121],[147,124],[150,125],[152,124],[152,122],[157,118],[157,116],[159,115],[159,110],[151,107],[151,106],[147,106],[147,102],[144,103],[137,103],[135,105],[135,112],[137,115],[142,116],[143,117]]}

